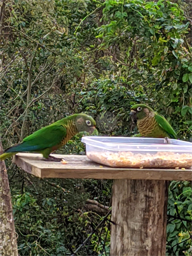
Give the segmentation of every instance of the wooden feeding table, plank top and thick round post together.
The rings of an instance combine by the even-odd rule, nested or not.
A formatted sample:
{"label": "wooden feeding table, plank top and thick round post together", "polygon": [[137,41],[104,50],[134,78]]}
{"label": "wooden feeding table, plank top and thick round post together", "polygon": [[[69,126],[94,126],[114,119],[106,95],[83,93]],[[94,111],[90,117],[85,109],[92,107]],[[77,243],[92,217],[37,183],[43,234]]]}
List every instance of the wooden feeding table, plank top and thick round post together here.
{"label": "wooden feeding table, plank top and thick round post together", "polygon": [[168,184],[192,180],[192,170],[112,168],[80,155],[53,155],[68,163],[18,153],[13,161],[40,178],[114,179],[110,255],[165,255]]}

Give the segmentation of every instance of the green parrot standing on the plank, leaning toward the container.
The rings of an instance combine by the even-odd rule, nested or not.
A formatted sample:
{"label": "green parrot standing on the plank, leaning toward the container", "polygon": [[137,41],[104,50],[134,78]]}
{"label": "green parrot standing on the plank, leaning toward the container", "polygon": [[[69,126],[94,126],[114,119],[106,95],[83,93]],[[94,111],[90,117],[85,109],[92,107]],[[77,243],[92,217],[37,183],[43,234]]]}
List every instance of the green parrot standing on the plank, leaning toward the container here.
{"label": "green parrot standing on the plank, leaning toward the container", "polygon": [[50,156],[50,153],[64,146],[75,134],[86,131],[92,134],[95,129],[95,120],[86,114],[74,114],[52,123],[32,133],[19,144],[5,150],[0,160],[19,152],[36,152],[43,154],[45,161],[60,161]]}

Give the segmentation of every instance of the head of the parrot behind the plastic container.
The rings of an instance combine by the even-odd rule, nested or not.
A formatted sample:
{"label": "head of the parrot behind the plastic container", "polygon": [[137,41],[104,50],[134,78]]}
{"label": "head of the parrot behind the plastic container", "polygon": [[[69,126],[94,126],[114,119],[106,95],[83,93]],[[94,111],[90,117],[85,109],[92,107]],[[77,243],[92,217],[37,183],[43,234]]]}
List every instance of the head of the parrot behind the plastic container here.
{"label": "head of the parrot behind the plastic container", "polygon": [[135,104],[131,107],[130,115],[137,120],[143,119],[148,116],[149,113],[154,112],[152,108],[145,104]]}

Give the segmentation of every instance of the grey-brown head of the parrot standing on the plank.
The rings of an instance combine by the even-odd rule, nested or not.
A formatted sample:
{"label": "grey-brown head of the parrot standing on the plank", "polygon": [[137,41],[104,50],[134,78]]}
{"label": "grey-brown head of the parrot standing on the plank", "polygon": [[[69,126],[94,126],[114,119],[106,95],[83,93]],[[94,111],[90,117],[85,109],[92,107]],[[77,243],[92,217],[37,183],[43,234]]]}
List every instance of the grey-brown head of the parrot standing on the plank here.
{"label": "grey-brown head of the parrot standing on the plank", "polygon": [[88,132],[89,134],[92,134],[96,129],[95,120],[86,114],[78,114],[75,119],[75,124],[78,132]]}

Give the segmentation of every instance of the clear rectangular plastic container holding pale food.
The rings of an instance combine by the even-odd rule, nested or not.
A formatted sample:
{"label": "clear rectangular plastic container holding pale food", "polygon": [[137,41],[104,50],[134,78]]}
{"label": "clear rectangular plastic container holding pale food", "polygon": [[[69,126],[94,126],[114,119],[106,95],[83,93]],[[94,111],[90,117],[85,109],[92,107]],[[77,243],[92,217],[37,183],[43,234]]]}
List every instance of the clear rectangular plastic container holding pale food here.
{"label": "clear rectangular plastic container holding pale food", "polygon": [[111,167],[192,167],[192,143],[175,139],[84,136],[87,157]]}

